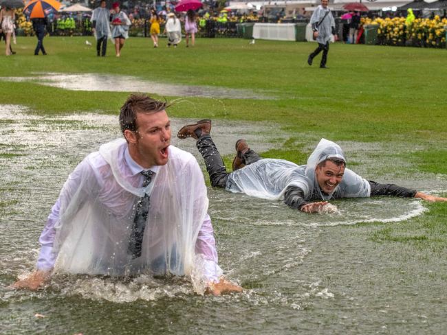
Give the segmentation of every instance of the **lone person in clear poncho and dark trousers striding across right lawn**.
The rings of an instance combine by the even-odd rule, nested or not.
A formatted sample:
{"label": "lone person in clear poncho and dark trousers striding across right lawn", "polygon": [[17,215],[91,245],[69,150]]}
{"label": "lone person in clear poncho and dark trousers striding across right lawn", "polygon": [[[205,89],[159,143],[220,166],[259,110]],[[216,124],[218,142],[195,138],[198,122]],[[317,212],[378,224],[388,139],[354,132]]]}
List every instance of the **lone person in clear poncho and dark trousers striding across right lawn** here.
{"label": "lone person in clear poncho and dark trousers striding across right lawn", "polygon": [[320,68],[322,69],[327,68],[326,62],[331,34],[336,34],[334,16],[332,16],[331,10],[327,7],[327,3],[329,3],[329,0],[321,0],[321,5],[316,8],[310,18],[310,24],[314,31],[314,39],[318,42],[318,47],[307,58],[307,64],[312,65],[312,60],[323,51],[320,62]]}

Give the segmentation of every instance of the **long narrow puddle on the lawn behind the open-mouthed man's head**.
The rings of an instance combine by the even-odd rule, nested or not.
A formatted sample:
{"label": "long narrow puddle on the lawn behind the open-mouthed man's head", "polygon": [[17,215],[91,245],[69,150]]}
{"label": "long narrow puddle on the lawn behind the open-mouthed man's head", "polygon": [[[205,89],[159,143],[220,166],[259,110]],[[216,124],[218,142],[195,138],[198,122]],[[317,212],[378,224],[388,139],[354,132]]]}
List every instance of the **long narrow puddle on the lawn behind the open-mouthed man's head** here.
{"label": "long narrow puddle on the lawn behind the open-mouthed man's head", "polygon": [[100,73],[36,73],[33,77],[0,77],[6,82],[37,82],[45,86],[72,91],[143,92],[162,96],[214,97],[219,99],[271,100],[268,96],[246,89],[226,89],[214,86],[191,86],[142,80],[132,76]]}

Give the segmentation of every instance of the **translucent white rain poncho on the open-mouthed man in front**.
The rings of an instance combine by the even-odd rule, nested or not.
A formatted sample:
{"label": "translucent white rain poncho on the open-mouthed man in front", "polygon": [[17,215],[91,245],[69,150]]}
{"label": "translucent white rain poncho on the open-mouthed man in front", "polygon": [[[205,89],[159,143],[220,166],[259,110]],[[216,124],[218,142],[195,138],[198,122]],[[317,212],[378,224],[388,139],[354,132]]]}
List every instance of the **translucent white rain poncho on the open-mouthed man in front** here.
{"label": "translucent white rain poncho on the open-mouthed man in front", "polygon": [[[61,203],[61,218],[55,225],[55,269],[116,276],[200,272],[203,257],[195,254],[195,243],[208,197],[203,174],[196,173],[200,171],[197,161],[170,146],[168,163],[160,167],[152,183],[135,187],[118,169],[118,157],[125,148],[124,139],[118,139],[86,158],[91,170],[84,172],[80,185],[68,190],[72,198]],[[135,204],[144,193],[151,196],[151,207],[142,256],[131,259],[128,246]]]}

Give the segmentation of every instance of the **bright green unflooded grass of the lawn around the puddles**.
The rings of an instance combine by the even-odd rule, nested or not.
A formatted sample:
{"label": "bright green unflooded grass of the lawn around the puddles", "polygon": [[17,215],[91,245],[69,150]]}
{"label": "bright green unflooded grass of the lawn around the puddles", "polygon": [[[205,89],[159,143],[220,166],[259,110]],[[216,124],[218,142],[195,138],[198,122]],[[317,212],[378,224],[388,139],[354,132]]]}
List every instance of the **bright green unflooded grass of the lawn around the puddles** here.
{"label": "bright green unflooded grass of the lawn around the puddles", "polygon": [[[173,84],[250,89],[276,100],[188,97],[175,104],[172,117],[272,122],[276,149],[263,157],[304,163],[309,141],[404,144],[406,172],[447,174],[447,51],[366,45],[331,45],[328,66],[307,65],[314,43],[243,39],[197,39],[194,48],[153,49],[149,38],[129,38],[122,57],[96,57],[85,37],[45,38],[49,56],[34,56],[35,38],[18,38],[17,55],[1,56],[1,76],[36,72],[109,73]],[[129,93],[65,91],[35,82],[0,81],[0,103],[29,106],[32,113],[96,112],[118,114]],[[174,99],[175,97],[170,97]],[[289,138],[290,134],[294,134]],[[241,134],[241,137],[243,134]],[[415,149],[420,146],[429,150]],[[365,152],[369,155],[369,152]],[[373,153],[374,154],[374,153]],[[378,157],[380,159],[380,157]],[[225,157],[227,166],[232,157]],[[356,165],[360,164],[358,161]],[[400,169],[401,167],[396,167]],[[446,204],[429,205],[419,218],[386,224],[377,242],[447,245]]]}

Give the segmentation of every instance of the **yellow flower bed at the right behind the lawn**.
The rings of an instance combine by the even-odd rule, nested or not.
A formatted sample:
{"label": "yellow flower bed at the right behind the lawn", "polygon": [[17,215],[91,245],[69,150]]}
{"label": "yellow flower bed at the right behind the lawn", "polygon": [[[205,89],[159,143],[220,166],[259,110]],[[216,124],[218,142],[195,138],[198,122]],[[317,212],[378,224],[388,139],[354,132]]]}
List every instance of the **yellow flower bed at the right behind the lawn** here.
{"label": "yellow flower bed at the right behind the lawn", "polygon": [[413,45],[417,47],[445,47],[447,19],[438,15],[433,20],[415,19],[410,25],[405,24],[404,17],[393,19],[362,19],[362,24],[377,24],[380,44]]}

